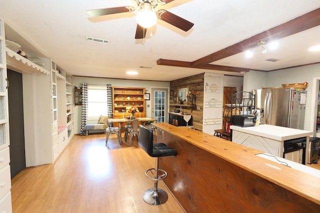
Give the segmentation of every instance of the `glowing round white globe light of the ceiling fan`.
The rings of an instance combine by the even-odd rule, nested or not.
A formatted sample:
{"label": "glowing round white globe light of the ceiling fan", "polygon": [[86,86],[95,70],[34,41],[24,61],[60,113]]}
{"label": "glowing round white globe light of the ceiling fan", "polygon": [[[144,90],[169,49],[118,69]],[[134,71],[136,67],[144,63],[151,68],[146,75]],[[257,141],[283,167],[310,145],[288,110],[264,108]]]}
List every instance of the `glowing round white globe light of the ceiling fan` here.
{"label": "glowing round white globe light of the ceiling fan", "polygon": [[156,23],[157,16],[150,3],[143,3],[142,9],[136,13],[136,22],[143,28],[149,28]]}

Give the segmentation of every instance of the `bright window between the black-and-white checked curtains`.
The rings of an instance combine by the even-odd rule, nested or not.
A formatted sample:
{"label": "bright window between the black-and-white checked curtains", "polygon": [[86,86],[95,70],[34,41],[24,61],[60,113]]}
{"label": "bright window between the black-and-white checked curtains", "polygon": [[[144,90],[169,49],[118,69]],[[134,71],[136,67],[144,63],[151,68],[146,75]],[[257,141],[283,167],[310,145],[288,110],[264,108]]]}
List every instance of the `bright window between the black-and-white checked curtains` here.
{"label": "bright window between the black-and-white checked curtains", "polygon": [[88,120],[107,115],[107,96],[104,85],[88,85]]}

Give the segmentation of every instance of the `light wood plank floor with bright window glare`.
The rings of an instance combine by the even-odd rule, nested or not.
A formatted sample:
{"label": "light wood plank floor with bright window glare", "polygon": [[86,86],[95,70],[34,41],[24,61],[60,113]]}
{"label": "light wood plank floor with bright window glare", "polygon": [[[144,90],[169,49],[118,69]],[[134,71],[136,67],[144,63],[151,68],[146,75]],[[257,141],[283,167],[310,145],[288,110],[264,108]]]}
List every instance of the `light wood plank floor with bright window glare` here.
{"label": "light wood plank floor with bright window glare", "polygon": [[[122,137],[123,140],[123,137]],[[75,135],[50,165],[27,168],[12,179],[13,213],[182,213],[168,192],[168,201],[150,206],[142,200],[153,187],[144,172],[154,159],[135,138],[129,147],[111,135]],[[170,175],[170,174],[168,174]]]}

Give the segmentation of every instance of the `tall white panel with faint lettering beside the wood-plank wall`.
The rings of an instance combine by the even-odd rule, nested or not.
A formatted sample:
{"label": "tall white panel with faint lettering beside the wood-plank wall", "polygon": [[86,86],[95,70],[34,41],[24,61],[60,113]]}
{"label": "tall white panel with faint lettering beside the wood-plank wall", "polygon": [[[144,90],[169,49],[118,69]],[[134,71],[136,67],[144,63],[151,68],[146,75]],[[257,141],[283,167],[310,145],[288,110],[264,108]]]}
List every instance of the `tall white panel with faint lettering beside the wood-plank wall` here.
{"label": "tall white panel with faint lettering beside the wood-plank wall", "polygon": [[213,135],[222,127],[223,74],[204,73],[202,132]]}

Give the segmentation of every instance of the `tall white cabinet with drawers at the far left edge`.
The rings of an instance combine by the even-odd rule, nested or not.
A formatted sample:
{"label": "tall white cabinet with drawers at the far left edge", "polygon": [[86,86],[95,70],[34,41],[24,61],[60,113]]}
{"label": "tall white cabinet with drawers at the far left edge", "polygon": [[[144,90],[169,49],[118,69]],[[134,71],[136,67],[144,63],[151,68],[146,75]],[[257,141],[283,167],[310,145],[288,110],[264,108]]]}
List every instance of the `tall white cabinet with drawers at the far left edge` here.
{"label": "tall white cabinet with drawers at the far left edge", "polygon": [[6,82],[4,22],[0,15],[0,212],[11,213],[9,118]]}

